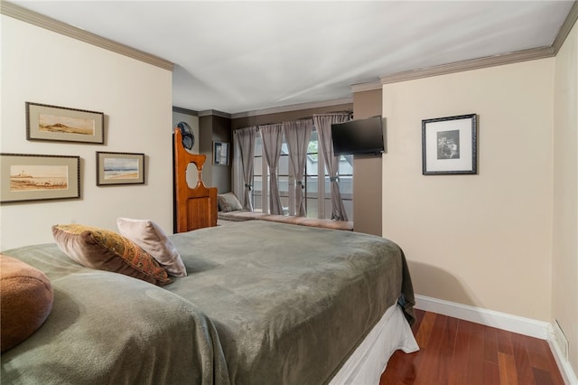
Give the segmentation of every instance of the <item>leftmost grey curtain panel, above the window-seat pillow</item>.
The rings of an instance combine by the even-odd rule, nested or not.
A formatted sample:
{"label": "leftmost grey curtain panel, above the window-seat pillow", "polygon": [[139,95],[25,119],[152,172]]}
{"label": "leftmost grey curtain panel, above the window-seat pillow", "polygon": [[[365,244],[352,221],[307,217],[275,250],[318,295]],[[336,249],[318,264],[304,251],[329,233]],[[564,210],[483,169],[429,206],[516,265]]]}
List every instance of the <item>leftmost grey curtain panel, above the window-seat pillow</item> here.
{"label": "leftmost grey curtain panel, above the window-seat pillow", "polygon": [[253,160],[255,155],[255,135],[256,127],[241,128],[233,132],[235,142],[237,143],[239,163],[241,165],[241,173],[237,178],[242,183],[235,183],[241,185],[239,188],[242,193],[236,192],[243,210],[253,211],[253,200],[251,199],[251,187],[253,183]]}

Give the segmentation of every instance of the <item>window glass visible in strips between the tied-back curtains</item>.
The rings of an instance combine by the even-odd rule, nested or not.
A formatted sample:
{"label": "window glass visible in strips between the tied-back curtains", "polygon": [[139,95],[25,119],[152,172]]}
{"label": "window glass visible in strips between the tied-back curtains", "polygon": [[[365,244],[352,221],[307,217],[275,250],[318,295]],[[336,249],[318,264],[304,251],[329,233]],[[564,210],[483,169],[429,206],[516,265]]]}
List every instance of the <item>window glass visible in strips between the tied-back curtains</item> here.
{"label": "window glass visible in strips between the tied-back curtains", "polygon": [[[322,175],[322,183],[320,177]],[[294,175],[289,167],[289,151],[285,139],[279,158],[279,194],[285,215],[294,215]],[[341,199],[350,221],[353,221],[353,155],[340,156],[339,183]],[[255,211],[268,212],[269,171],[263,159],[263,142],[259,133],[255,138],[253,176],[253,207]],[[304,178],[305,209],[311,218],[331,219],[330,178],[322,154],[319,152],[317,131],[313,129],[307,149]]]}

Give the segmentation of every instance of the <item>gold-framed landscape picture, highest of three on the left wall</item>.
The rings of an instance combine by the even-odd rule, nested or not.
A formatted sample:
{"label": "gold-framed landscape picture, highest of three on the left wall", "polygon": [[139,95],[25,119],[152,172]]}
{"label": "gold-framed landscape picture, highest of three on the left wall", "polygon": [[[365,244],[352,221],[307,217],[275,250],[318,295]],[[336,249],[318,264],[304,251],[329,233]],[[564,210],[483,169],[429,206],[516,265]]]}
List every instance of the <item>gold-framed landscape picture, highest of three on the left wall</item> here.
{"label": "gold-framed landscape picture, highest of three on the left wall", "polygon": [[26,139],[105,143],[102,112],[26,102]]}

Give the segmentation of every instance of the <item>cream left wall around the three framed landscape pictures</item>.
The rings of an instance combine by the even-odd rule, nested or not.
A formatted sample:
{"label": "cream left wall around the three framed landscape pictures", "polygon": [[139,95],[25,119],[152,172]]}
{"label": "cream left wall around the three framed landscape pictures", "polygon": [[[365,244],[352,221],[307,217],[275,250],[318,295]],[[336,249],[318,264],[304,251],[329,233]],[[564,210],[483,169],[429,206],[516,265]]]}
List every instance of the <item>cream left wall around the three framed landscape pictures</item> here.
{"label": "cream left wall around the three framed landscape pictures", "polygon": [[[115,230],[119,216],[172,230],[172,73],[1,16],[4,153],[79,155],[81,199],[0,206],[0,249],[53,242],[51,225]],[[102,111],[106,144],[26,140],[24,103]],[[146,155],[146,184],[96,185],[96,152]],[[3,175],[4,176],[4,175]]]}

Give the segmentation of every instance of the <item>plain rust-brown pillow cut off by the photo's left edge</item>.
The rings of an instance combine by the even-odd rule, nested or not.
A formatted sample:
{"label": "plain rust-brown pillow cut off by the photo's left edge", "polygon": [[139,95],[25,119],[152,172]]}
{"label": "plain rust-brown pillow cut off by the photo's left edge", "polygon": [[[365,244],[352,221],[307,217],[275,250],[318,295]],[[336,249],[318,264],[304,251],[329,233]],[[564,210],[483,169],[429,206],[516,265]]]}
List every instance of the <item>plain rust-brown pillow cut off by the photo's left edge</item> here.
{"label": "plain rust-brown pillow cut off by the photo's left edge", "polygon": [[0,350],[22,343],[51,314],[51,281],[20,259],[0,254]]}

